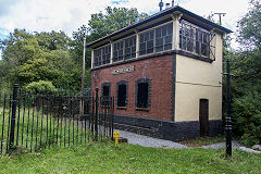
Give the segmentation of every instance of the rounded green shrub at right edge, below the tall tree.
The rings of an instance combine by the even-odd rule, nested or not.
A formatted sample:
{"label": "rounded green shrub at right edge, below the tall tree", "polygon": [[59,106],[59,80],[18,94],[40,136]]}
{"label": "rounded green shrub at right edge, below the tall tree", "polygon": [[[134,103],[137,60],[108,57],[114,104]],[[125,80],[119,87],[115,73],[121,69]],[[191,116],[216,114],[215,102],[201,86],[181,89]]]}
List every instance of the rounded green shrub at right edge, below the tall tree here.
{"label": "rounded green shrub at right edge, below the tall tree", "polygon": [[[261,144],[261,95],[248,91],[233,102],[235,130],[246,146]],[[236,114],[235,114],[236,113]]]}

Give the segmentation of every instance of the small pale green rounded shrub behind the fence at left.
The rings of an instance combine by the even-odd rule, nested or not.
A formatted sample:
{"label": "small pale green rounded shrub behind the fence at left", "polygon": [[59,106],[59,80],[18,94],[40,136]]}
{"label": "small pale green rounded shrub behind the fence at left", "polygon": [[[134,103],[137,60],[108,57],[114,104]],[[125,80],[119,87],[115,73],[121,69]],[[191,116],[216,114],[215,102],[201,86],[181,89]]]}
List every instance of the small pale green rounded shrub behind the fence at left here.
{"label": "small pale green rounded shrub behind the fence at left", "polygon": [[28,84],[25,88],[30,92],[35,92],[37,90],[37,92],[54,94],[58,91],[58,89],[49,80],[33,82]]}

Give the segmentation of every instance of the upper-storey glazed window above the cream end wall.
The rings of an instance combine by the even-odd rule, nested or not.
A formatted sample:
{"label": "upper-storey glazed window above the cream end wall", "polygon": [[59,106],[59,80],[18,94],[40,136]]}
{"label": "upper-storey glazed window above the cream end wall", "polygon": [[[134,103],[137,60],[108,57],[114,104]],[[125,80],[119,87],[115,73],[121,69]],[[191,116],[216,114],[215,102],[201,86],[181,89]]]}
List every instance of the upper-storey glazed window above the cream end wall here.
{"label": "upper-storey glazed window above the cream end wall", "polygon": [[179,25],[179,48],[204,58],[214,57],[214,46],[212,39],[214,34],[182,21]]}

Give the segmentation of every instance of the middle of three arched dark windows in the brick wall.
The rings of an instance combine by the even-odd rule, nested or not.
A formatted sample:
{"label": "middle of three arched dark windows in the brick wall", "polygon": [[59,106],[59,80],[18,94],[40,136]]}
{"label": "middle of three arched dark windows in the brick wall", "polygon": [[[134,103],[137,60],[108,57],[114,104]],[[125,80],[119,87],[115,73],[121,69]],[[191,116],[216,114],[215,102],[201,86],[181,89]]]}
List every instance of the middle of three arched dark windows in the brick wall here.
{"label": "middle of three arched dark windows in the brick wall", "polygon": [[121,80],[116,85],[116,105],[117,107],[126,107],[127,105],[127,82]]}

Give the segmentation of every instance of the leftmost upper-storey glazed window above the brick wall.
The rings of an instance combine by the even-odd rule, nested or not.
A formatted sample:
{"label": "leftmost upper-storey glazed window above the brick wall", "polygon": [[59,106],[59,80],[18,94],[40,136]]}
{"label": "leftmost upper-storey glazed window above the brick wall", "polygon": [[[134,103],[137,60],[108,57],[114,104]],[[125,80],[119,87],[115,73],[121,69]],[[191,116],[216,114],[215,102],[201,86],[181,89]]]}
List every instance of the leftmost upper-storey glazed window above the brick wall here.
{"label": "leftmost upper-storey glazed window above the brick wall", "polygon": [[94,57],[94,66],[109,64],[111,59],[111,45],[96,49]]}

